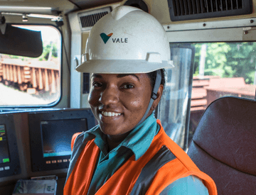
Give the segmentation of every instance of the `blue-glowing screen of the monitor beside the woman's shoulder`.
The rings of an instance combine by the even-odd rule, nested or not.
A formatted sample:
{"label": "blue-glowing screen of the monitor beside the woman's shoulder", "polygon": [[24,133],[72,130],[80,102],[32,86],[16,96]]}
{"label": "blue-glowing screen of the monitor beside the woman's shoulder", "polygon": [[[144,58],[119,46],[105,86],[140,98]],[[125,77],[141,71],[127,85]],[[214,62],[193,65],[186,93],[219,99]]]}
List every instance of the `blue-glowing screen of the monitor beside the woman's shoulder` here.
{"label": "blue-glowing screen of the monitor beside the woman's shoulder", "polygon": [[41,121],[43,157],[71,155],[72,136],[85,130],[87,130],[85,118]]}

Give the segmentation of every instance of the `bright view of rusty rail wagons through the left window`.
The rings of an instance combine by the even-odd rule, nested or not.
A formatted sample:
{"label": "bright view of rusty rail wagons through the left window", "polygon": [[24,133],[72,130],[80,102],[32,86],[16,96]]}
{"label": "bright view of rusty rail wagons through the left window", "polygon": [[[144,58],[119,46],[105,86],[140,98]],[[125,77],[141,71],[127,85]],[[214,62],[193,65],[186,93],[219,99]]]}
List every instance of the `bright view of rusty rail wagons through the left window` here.
{"label": "bright view of rusty rail wagons through the left window", "polygon": [[16,27],[41,30],[43,53],[37,58],[0,54],[0,107],[57,103],[60,99],[60,32],[53,26]]}

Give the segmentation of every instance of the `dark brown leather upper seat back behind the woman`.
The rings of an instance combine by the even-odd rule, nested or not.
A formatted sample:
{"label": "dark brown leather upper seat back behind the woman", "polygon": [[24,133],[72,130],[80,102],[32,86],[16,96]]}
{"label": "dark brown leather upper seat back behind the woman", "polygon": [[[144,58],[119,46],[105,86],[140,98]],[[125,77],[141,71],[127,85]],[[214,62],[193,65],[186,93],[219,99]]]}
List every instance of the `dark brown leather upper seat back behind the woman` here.
{"label": "dark brown leather upper seat back behind the woman", "polygon": [[237,97],[213,101],[193,141],[216,160],[256,175],[256,101]]}

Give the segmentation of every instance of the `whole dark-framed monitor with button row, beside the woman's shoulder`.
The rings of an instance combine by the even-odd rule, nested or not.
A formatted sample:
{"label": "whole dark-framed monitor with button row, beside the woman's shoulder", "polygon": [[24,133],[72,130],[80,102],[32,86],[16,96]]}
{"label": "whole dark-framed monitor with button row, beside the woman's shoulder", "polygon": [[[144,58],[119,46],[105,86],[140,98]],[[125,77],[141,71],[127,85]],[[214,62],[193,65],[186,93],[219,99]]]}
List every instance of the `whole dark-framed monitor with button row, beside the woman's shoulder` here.
{"label": "whole dark-framed monitor with button row, beside the woman's shoulder", "polygon": [[68,168],[71,138],[95,126],[90,109],[28,113],[32,171]]}

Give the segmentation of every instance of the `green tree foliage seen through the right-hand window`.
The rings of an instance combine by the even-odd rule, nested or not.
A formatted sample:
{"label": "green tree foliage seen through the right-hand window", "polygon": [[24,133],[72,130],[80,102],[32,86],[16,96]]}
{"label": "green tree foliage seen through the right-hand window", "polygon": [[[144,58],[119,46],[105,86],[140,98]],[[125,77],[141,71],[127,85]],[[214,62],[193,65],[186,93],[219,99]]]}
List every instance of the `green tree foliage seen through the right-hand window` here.
{"label": "green tree foliage seen through the right-hand window", "polygon": [[205,75],[243,77],[253,84],[256,65],[256,43],[196,43],[194,76],[199,73],[202,45],[207,45]]}

